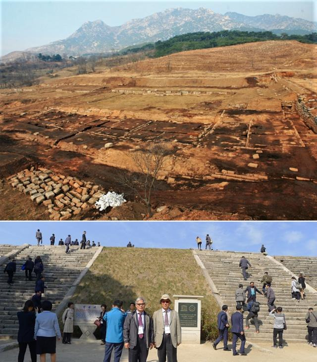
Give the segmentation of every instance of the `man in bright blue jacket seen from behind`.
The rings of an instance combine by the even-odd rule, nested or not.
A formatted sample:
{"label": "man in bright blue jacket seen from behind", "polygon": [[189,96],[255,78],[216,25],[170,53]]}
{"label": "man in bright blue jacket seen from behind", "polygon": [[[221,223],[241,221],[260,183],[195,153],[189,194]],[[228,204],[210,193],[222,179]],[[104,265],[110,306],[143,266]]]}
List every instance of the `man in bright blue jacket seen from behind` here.
{"label": "man in bright blue jacket seen from behind", "polygon": [[123,324],[127,313],[122,309],[122,301],[114,301],[110,311],[105,313],[106,321],[106,348],[104,362],[110,362],[111,353],[114,349],[113,362],[119,362],[124,346]]}

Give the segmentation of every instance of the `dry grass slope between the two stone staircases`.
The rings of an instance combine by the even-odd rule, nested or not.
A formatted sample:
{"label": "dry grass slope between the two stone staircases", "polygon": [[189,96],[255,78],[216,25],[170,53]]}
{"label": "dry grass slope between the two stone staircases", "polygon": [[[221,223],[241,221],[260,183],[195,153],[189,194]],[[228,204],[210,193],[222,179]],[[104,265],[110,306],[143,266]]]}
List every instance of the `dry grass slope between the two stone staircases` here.
{"label": "dry grass slope between the two stone staircases", "polygon": [[[204,296],[202,300],[202,338],[217,335],[219,307],[190,250],[105,247],[72,298],[75,303],[107,305],[124,302],[128,309],[137,297],[147,301],[152,315],[159,309],[162,294]],[[174,304],[172,304],[172,307]]]}

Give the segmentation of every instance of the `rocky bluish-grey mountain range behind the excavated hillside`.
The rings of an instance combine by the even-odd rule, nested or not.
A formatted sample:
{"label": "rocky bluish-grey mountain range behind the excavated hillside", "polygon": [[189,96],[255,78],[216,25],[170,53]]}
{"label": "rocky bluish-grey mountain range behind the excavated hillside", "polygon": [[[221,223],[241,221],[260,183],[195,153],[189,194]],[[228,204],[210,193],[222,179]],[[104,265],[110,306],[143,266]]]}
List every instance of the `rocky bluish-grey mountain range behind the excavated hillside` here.
{"label": "rocky bluish-grey mountain range behind the excavated hillside", "polygon": [[[29,48],[25,52],[67,56],[109,53],[136,44],[166,40],[175,35],[221,30],[309,34],[317,31],[317,22],[279,14],[246,16],[226,12],[222,15],[203,7],[172,8],[142,19],[132,19],[121,26],[108,26],[102,20],[88,21],[66,39]],[[9,55],[2,57],[2,61]]]}

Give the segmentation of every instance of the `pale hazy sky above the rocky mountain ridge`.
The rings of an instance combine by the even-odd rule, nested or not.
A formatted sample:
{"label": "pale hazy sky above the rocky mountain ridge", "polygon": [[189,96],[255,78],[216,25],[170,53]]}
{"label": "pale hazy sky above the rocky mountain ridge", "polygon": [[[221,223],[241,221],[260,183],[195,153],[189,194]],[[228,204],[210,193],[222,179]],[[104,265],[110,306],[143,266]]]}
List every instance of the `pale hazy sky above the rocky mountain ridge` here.
{"label": "pale hazy sky above the rocky mountain ridge", "polygon": [[264,13],[317,20],[314,1],[28,1],[0,0],[1,55],[16,50],[48,44],[67,38],[84,22],[103,20],[107,25],[121,25],[166,8],[206,7],[224,14],[235,11],[245,15]]}

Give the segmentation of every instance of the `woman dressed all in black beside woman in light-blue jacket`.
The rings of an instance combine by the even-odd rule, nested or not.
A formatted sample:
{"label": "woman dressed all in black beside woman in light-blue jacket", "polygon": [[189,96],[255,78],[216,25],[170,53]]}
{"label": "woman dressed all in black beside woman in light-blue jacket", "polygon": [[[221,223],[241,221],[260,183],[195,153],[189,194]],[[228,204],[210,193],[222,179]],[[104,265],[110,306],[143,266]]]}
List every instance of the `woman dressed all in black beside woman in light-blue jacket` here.
{"label": "woman dressed all in black beside woman in light-blue jacket", "polygon": [[19,320],[18,343],[19,356],[18,362],[24,361],[24,355],[27,346],[29,346],[31,361],[36,362],[36,341],[34,340],[34,327],[36,313],[33,302],[26,301],[21,312],[17,313]]}

